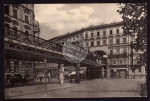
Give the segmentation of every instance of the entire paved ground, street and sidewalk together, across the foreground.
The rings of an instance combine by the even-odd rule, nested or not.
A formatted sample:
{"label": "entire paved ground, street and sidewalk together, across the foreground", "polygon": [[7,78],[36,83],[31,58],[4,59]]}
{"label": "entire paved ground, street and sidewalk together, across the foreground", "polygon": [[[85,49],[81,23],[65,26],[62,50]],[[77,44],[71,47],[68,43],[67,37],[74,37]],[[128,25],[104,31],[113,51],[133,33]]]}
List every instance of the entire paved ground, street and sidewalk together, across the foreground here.
{"label": "entire paved ground, street and sidewalk together, across the foreground", "polygon": [[[142,79],[94,79],[81,81],[80,84],[64,83],[17,87],[16,89],[5,89],[6,97],[28,98],[28,97],[140,97]],[[29,90],[30,89],[30,90]],[[6,93],[7,90],[7,93]],[[29,92],[30,91],[30,92]],[[25,94],[26,95],[23,95]],[[38,93],[37,93],[38,92]],[[16,94],[17,93],[17,94]],[[20,96],[18,93],[20,93]],[[31,94],[32,93],[32,94]],[[16,94],[16,97],[14,97]]]}

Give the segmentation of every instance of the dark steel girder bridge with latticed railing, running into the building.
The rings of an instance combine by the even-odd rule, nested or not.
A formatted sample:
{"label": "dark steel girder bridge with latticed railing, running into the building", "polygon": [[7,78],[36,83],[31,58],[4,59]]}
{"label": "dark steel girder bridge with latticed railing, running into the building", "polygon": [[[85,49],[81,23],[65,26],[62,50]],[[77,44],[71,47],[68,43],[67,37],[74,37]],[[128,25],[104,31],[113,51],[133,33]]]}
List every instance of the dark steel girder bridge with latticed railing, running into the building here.
{"label": "dark steel girder bridge with latticed railing, running into the building", "polygon": [[[80,64],[70,63],[64,58],[62,48],[63,46],[58,43],[47,43],[47,40],[25,32],[14,31],[12,28],[5,29],[5,59],[43,61],[46,58],[50,63],[64,64],[65,66],[100,67],[90,52]],[[104,61],[103,64],[106,62]]]}

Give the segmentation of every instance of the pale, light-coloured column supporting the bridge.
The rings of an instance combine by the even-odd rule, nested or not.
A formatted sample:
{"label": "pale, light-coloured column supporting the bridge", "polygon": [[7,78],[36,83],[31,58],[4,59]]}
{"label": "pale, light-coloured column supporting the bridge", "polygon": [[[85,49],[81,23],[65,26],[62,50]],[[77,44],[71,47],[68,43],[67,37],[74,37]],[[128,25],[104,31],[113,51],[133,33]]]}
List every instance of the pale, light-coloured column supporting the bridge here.
{"label": "pale, light-coloured column supporting the bridge", "polygon": [[58,80],[60,81],[60,84],[64,84],[64,64],[58,64],[58,69],[59,69]]}

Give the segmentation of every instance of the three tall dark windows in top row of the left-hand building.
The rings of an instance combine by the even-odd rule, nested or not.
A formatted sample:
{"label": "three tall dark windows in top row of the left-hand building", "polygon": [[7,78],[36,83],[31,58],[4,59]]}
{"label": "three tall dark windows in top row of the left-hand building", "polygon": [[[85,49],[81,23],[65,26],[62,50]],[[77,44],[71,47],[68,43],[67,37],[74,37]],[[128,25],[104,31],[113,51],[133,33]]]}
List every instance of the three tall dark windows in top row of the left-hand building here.
{"label": "three tall dark windows in top row of the left-hand building", "polygon": [[[9,6],[5,5],[5,14],[9,15],[9,13],[10,13]],[[13,17],[14,18],[17,18],[17,14],[18,14],[18,10],[17,9],[13,9]],[[25,16],[25,22],[29,23],[29,15],[25,14],[24,16]]]}

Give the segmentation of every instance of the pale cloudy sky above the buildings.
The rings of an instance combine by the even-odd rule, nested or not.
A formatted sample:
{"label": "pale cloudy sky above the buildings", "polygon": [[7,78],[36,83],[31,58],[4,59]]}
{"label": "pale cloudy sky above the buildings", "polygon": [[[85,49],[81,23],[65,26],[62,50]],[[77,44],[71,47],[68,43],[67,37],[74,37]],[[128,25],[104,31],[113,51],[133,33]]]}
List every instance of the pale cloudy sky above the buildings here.
{"label": "pale cloudy sky above the buildings", "polygon": [[35,4],[40,37],[46,40],[90,25],[122,21],[116,3]]}

